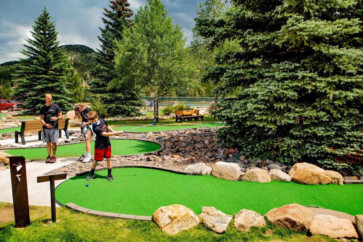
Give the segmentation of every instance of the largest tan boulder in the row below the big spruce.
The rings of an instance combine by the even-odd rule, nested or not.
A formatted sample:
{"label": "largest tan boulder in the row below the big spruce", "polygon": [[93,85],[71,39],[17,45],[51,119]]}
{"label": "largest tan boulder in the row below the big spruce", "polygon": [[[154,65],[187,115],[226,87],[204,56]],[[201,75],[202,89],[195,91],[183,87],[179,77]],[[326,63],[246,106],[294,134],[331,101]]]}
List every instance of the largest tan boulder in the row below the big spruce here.
{"label": "largest tan boulder in the row below the big spruce", "polygon": [[324,169],[306,162],[296,163],[289,172],[291,181],[299,184],[329,184],[331,177]]}

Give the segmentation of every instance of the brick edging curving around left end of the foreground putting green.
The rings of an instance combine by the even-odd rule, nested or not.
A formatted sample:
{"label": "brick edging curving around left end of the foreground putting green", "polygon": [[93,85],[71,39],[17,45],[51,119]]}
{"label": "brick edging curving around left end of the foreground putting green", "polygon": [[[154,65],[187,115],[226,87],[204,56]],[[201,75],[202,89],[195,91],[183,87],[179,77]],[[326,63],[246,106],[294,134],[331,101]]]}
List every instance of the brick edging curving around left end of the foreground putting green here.
{"label": "brick edging curving around left end of the foreground putting green", "polygon": [[[181,174],[181,175],[187,175],[186,172],[180,171],[178,169],[164,168],[164,167],[158,167],[158,166],[153,166],[153,165],[131,165],[131,164],[127,165],[126,164],[126,165],[114,165],[114,166],[112,166],[112,168],[146,168],[146,169],[155,169],[155,170],[161,170],[161,171],[168,171],[168,172],[177,173],[177,174]],[[97,168],[97,169],[95,169],[95,171],[102,171],[102,170],[105,170],[105,169],[107,169],[107,168]],[[76,176],[85,175],[85,174],[89,173],[90,171],[91,170],[78,172],[78,173],[76,173]],[[58,184],[56,186],[56,190],[57,190],[58,186],[61,185],[65,181],[62,181],[60,184]],[[56,199],[56,203],[59,206],[61,206],[62,208],[66,207],[68,209],[72,209],[74,212],[87,213],[87,214],[89,214],[91,216],[94,216],[94,217],[122,219],[122,220],[134,219],[134,220],[148,220],[148,221],[151,221],[151,216],[102,212],[102,211],[97,211],[97,210],[91,210],[91,209],[88,209],[88,208],[83,208],[81,206],[78,206],[77,204],[74,204],[73,202],[69,202],[68,204],[63,205],[57,199]]]}

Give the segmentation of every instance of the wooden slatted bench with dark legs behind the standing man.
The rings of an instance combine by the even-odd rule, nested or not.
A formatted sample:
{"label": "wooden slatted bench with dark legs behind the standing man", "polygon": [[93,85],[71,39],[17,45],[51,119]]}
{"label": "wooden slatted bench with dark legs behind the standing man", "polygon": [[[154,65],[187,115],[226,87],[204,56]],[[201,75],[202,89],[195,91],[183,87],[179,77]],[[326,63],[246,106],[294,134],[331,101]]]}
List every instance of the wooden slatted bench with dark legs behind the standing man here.
{"label": "wooden slatted bench with dark legs behind the standing man", "polygon": [[[59,136],[62,136],[62,130],[64,130],[66,134],[66,138],[69,139],[69,132],[68,132],[68,121],[69,119],[60,119],[58,120],[58,128],[59,128]],[[42,131],[43,131],[43,124],[40,120],[27,120],[21,121],[21,128],[20,131],[15,131],[15,143],[18,143],[18,135],[20,135],[21,143],[25,144],[24,133],[27,132],[36,132],[38,131],[38,140],[42,139]]]}

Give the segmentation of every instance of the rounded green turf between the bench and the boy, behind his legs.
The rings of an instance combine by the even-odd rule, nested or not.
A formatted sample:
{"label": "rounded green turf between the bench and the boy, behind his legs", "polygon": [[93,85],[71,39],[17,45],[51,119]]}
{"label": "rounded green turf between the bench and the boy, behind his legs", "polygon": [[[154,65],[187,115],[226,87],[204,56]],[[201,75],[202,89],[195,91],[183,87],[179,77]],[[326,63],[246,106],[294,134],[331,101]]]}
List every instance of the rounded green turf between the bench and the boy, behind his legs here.
{"label": "rounded green turf between the bench and the boy, behind his legs", "polygon": [[[62,145],[57,147],[57,158],[60,157],[78,157],[82,152],[86,152],[82,143]],[[133,155],[144,154],[160,149],[159,144],[142,141],[142,140],[130,140],[130,139],[111,139],[111,153],[112,155]],[[91,142],[91,151],[93,153],[94,142]],[[46,158],[46,148],[36,149],[11,149],[6,153],[13,156],[24,156],[29,160],[42,160]]]}

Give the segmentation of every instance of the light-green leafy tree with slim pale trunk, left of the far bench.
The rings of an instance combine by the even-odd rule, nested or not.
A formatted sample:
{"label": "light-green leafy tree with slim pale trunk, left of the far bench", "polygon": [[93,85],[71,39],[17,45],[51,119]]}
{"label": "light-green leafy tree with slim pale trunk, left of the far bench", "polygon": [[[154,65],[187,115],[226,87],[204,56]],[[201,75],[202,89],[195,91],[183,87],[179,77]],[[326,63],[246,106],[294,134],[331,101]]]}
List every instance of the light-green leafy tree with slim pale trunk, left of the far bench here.
{"label": "light-green leafy tree with slim pale trunk, left of the far bench", "polygon": [[[163,90],[191,82],[195,71],[187,58],[183,32],[172,24],[160,0],[147,0],[123,37],[118,41],[118,79],[113,85],[147,87],[158,100]],[[158,120],[158,108],[154,109],[154,119]]]}

